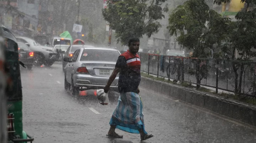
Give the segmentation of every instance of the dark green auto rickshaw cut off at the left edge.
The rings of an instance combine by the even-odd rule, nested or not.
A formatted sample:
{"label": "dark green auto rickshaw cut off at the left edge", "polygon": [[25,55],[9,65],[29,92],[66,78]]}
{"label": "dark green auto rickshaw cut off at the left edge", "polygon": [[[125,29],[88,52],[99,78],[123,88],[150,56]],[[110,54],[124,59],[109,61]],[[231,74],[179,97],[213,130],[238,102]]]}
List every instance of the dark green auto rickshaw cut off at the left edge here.
{"label": "dark green auto rickshaw cut off at the left edge", "polygon": [[[20,74],[20,61],[18,60],[18,44],[15,36],[9,29],[0,26],[0,43],[1,49],[4,50],[5,63],[1,63],[0,69],[4,71],[6,80],[1,78],[1,82],[6,83],[6,88],[0,89],[4,91],[6,97],[6,105],[1,103],[1,107],[6,107],[7,116],[1,116],[1,122],[6,122],[7,142],[8,143],[24,143],[34,140],[31,136],[23,131],[22,124],[22,86]],[[4,80],[4,81],[2,81]],[[2,95],[1,95],[2,96]],[[4,110],[4,109],[1,109]],[[6,120],[5,120],[6,119]],[[2,128],[2,127],[1,127]]]}

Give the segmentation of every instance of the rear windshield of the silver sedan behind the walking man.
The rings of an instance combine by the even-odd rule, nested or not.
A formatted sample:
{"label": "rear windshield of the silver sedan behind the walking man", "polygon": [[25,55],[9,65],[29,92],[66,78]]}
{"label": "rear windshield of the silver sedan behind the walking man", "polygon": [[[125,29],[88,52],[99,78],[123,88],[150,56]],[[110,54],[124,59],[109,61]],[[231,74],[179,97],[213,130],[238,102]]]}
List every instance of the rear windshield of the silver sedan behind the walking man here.
{"label": "rear windshield of the silver sedan behind the walking man", "polygon": [[113,50],[84,49],[80,61],[116,62],[119,55],[118,51]]}

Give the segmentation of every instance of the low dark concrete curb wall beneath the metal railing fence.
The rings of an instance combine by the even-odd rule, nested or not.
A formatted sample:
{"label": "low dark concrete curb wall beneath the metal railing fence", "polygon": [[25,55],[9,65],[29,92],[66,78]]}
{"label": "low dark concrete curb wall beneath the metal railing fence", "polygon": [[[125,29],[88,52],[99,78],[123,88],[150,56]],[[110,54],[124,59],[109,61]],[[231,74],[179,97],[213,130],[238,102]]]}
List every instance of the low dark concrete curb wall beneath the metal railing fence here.
{"label": "low dark concrete curb wall beneath the metal railing fence", "polygon": [[140,86],[256,126],[256,107],[254,105],[225,99],[187,87],[152,80],[143,76],[140,81]]}

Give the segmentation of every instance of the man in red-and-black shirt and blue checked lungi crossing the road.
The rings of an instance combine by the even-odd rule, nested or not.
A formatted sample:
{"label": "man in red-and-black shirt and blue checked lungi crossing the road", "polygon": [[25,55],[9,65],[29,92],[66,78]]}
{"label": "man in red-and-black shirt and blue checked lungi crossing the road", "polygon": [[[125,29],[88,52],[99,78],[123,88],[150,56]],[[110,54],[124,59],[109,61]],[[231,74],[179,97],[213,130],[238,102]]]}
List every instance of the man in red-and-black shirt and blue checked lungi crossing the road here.
{"label": "man in red-and-black shirt and blue checked lungi crossing the road", "polygon": [[148,135],[145,131],[143,104],[138,94],[140,83],[140,58],[137,54],[139,39],[129,39],[128,47],[129,50],[118,57],[116,67],[104,87],[104,92],[107,93],[112,81],[120,72],[118,80],[120,96],[110,120],[110,130],[107,136],[123,138],[115,132],[115,129],[118,128],[129,133],[140,133],[140,139],[144,141],[153,135]]}

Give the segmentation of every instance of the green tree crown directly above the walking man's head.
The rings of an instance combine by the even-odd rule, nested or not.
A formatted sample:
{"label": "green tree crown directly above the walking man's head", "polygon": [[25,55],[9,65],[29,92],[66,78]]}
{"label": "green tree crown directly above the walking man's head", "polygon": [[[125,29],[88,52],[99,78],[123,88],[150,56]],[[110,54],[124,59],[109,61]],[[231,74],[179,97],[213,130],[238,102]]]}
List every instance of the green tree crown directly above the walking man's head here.
{"label": "green tree crown directly above the walking man's head", "polygon": [[167,5],[162,8],[166,0],[119,0],[108,1],[102,10],[103,17],[116,31],[117,42],[127,45],[130,37],[150,37],[158,32],[158,19],[164,18],[162,12],[167,12]]}

